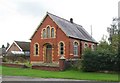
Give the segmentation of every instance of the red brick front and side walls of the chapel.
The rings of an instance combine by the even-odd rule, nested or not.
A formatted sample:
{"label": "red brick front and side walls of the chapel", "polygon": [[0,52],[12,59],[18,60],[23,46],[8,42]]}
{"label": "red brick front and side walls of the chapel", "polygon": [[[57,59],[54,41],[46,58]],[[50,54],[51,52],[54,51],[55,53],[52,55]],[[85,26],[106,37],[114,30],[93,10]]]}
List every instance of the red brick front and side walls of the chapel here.
{"label": "red brick front and side walls of the chapel", "polygon": [[[56,37],[55,38],[49,38],[49,39],[41,39],[41,31],[43,28],[45,28],[47,25],[50,25],[50,27],[54,27],[56,30]],[[61,30],[59,26],[57,26],[54,21],[47,16],[42,24],[38,27],[38,30],[35,32],[34,36],[31,39],[31,44],[30,44],[30,59],[32,61],[45,61],[44,59],[44,54],[43,54],[43,48],[46,43],[50,43],[53,47],[52,52],[52,62],[59,61],[59,54],[58,54],[58,43],[60,41],[64,41],[65,43],[65,58],[70,59],[70,58],[80,58],[82,56],[82,52],[84,49],[84,43],[85,41],[81,41],[78,39],[73,39],[69,38],[66,36],[66,34]],[[73,42],[78,41],[79,47],[78,47],[78,56],[75,57],[73,55]],[[39,46],[39,56],[34,56],[34,44],[38,43]],[[91,48],[92,43],[87,42],[89,47]]]}

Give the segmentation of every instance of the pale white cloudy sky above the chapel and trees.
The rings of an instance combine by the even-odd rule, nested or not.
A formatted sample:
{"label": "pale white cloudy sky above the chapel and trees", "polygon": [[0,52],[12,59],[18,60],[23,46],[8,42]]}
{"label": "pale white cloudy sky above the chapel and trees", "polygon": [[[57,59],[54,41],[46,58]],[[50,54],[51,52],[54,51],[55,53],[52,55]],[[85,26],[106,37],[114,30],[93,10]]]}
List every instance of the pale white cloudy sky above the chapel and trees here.
{"label": "pale white cloudy sky above the chapel and trees", "polygon": [[118,16],[119,0],[0,0],[0,47],[30,37],[50,12],[82,25],[96,41],[107,35]]}

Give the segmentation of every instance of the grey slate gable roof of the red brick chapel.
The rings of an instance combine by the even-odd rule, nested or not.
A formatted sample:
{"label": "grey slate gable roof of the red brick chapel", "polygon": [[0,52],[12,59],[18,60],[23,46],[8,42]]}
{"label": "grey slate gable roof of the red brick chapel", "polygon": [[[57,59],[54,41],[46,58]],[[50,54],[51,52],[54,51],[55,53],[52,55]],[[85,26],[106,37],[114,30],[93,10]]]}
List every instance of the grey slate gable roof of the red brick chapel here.
{"label": "grey slate gable roof of the red brick chapel", "polygon": [[[68,21],[64,18],[58,17],[58,16],[53,15],[53,14],[48,13],[48,12],[47,12],[45,18],[47,17],[47,15],[50,16],[50,18],[62,29],[62,31],[68,37],[97,43],[97,41],[94,38],[92,38],[91,35],[81,25],[71,23],[70,21]],[[43,21],[44,21],[44,19],[43,19]],[[34,36],[34,34],[33,34],[33,36]],[[32,39],[32,37],[31,37],[31,39]]]}

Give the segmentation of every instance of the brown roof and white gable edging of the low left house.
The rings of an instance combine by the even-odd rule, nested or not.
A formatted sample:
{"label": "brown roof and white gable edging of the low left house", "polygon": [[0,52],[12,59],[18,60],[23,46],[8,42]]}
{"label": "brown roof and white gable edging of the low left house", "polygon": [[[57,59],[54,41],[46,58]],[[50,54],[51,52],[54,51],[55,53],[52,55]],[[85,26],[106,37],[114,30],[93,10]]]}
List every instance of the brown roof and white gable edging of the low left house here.
{"label": "brown roof and white gable edging of the low left house", "polygon": [[[30,51],[30,42],[14,41],[13,43],[14,43],[21,51]],[[8,51],[12,45],[13,45],[13,44],[11,44],[6,51]]]}

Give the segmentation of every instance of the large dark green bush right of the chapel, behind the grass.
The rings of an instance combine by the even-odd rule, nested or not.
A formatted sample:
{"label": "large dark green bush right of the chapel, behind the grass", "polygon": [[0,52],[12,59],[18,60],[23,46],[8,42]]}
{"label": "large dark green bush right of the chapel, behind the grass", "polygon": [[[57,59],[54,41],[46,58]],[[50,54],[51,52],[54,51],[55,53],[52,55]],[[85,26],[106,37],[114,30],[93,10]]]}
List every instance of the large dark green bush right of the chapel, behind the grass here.
{"label": "large dark green bush right of the chapel, behind the grass", "polygon": [[82,61],[83,71],[119,71],[119,58],[108,50],[86,49]]}

